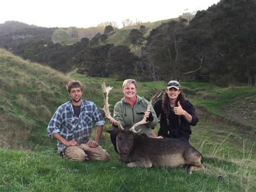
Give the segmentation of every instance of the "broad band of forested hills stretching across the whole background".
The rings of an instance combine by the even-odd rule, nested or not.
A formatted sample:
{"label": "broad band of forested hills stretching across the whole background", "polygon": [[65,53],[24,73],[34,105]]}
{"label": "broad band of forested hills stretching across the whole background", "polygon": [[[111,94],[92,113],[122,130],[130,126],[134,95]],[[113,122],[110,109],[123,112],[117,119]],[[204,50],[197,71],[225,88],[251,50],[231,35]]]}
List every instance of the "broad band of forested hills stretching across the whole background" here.
{"label": "broad band of forested hills stretching across the whole background", "polygon": [[[92,76],[132,75],[141,81],[197,79],[256,86],[255,10],[256,0],[222,0],[198,11],[192,19],[190,14],[183,14],[162,23],[149,35],[144,25],[124,29],[118,33],[123,41],[117,44],[109,40],[108,34],[114,30],[110,23],[104,34],[102,27],[101,33],[97,31],[100,27],[93,29],[89,40],[74,27],[40,28],[7,22],[0,26],[4,31],[1,47],[63,72],[78,66],[81,73]],[[130,19],[123,20],[124,26],[130,24]],[[80,40],[64,45],[68,37]]]}

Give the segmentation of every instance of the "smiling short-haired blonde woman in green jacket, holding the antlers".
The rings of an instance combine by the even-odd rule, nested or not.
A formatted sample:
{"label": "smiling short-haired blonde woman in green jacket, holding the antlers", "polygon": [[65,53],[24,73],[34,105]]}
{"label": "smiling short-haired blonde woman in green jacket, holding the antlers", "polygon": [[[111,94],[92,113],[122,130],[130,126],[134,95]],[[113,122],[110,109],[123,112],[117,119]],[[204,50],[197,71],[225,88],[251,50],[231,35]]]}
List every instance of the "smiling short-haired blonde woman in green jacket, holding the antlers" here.
{"label": "smiling short-haired blonde woman in green jacket, holding the antlers", "polygon": [[[151,127],[155,127],[158,123],[156,113],[151,106],[150,110],[146,111],[147,105],[150,103],[145,98],[138,96],[137,83],[134,79],[126,79],[122,86],[124,97],[115,104],[114,116],[110,122],[113,124],[113,129],[118,129],[116,121],[119,121],[123,127],[131,127],[135,123],[141,121],[145,116],[148,120],[147,124],[142,124],[136,127],[136,131],[141,131],[139,134],[146,134],[148,137],[152,136]],[[111,135],[111,141],[116,148],[116,135]]]}

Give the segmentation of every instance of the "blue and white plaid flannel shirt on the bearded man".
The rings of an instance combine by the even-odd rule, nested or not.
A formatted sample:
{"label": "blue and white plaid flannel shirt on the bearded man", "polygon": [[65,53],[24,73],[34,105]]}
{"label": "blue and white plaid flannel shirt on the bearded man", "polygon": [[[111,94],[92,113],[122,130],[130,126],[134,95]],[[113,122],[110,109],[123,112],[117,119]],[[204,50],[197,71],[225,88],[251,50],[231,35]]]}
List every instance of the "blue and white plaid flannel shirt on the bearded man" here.
{"label": "blue and white plaid flannel shirt on the bearded man", "polygon": [[[50,139],[53,134],[59,133],[67,141],[75,140],[78,144],[86,143],[92,133],[92,121],[96,126],[104,125],[103,117],[97,106],[91,102],[82,99],[81,111],[79,117],[74,114],[72,100],[62,104],[54,113],[47,132]],[[67,146],[58,141],[58,151],[62,152]]]}

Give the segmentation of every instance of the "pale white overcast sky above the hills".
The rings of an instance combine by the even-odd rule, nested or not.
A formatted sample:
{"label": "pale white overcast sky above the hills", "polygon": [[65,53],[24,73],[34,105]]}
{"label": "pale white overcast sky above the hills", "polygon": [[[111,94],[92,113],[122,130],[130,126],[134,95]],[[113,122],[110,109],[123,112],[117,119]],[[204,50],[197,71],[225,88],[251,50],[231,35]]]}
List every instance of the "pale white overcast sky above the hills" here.
{"label": "pale white overcast sky above the hills", "polygon": [[155,22],[207,9],[220,0],[1,0],[0,24],[16,20],[40,27],[97,26],[122,20]]}

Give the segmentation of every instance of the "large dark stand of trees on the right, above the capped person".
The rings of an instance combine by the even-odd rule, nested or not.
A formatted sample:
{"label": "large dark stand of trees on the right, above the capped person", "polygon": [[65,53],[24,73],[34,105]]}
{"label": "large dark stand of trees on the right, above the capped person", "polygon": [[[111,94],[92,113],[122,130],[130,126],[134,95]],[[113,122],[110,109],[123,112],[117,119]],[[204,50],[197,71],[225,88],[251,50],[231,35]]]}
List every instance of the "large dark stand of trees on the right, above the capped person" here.
{"label": "large dark stand of trees on the right, above the capped person", "polygon": [[[255,85],[255,0],[223,0],[153,29],[143,56],[153,79],[197,78]],[[158,74],[158,75],[157,75]]]}

